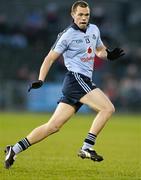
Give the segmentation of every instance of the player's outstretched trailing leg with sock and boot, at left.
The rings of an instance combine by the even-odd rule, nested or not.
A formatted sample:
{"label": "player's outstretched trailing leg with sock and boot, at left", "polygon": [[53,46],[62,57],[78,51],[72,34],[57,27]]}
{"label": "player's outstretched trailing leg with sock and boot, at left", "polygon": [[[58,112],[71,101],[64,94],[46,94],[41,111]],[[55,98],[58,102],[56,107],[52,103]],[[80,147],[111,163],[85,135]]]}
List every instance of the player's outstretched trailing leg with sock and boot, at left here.
{"label": "player's outstretched trailing leg with sock and boot, at left", "polygon": [[47,123],[35,128],[26,138],[20,140],[14,146],[6,147],[5,168],[8,169],[11,167],[18,153],[59,131],[63,124],[67,122],[74,113],[75,108],[73,106],[60,102]]}

